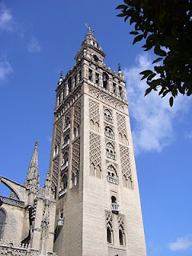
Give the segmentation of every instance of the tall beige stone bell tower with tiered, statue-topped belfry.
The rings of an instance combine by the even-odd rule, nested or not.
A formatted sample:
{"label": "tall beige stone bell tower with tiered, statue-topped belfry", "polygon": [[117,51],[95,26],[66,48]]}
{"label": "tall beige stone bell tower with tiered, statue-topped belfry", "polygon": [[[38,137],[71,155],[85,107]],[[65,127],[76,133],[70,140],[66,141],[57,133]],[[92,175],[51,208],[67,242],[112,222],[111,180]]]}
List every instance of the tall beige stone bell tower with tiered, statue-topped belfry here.
{"label": "tall beige stone bell tower with tiered, statue-topped belfry", "polygon": [[146,256],[125,80],[89,26],[56,89],[50,158],[58,256]]}

